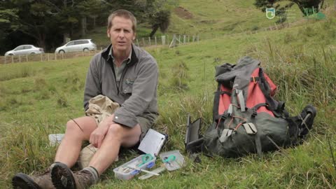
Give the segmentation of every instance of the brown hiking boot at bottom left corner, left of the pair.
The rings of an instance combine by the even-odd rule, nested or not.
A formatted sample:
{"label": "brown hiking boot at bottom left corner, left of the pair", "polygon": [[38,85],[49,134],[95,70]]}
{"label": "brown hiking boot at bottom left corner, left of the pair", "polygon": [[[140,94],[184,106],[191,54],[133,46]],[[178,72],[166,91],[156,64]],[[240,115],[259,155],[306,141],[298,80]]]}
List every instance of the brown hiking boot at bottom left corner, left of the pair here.
{"label": "brown hiking boot at bottom left corner, left of the pair", "polygon": [[50,169],[46,169],[43,174],[29,176],[27,174],[18,173],[12,179],[13,188],[24,189],[55,189],[52,185]]}

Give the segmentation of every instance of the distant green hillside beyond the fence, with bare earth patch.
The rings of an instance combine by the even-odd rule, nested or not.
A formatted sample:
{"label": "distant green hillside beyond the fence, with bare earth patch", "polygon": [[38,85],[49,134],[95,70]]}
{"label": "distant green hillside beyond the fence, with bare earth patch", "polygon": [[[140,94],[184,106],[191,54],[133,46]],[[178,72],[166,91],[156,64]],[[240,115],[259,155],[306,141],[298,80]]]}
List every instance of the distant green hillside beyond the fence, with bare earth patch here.
{"label": "distant green hillside beyond the fence, with bare earth patch", "polygon": [[[273,20],[266,18],[265,13],[253,6],[254,0],[183,0],[172,10],[171,23],[167,30],[168,35],[188,34],[199,35],[201,40],[205,38],[217,38],[226,34],[244,33],[246,31],[262,31],[275,26]],[[333,0],[325,0],[326,5],[335,3]],[[284,25],[302,25],[302,13],[294,5],[288,9],[288,20]],[[148,38],[151,26],[140,24],[137,38]],[[157,31],[156,35],[162,33]],[[99,46],[106,46],[109,41],[106,38],[106,27],[100,27],[90,31],[87,38],[93,38]]]}

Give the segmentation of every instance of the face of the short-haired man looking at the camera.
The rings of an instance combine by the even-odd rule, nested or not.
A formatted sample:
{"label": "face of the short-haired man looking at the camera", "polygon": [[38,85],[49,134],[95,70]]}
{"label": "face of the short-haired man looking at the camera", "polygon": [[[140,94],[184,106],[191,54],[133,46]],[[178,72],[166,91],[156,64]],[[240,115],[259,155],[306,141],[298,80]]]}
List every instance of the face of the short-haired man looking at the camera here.
{"label": "face of the short-haired man looking at the camera", "polygon": [[128,52],[132,48],[132,41],[135,38],[132,26],[132,21],[127,18],[118,16],[113,18],[112,27],[107,30],[107,36],[113,45],[113,53]]}

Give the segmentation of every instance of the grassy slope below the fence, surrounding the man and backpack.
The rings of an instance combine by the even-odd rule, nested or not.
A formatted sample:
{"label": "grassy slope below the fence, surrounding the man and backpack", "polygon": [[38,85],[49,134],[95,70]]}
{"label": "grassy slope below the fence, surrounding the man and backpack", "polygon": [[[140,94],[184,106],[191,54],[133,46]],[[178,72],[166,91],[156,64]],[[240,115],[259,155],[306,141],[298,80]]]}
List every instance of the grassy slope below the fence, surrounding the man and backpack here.
{"label": "grassy slope below the fence, surrounding the man and backpack", "polygon": [[[245,1],[237,2],[244,8]],[[203,14],[204,20],[216,15]],[[267,153],[262,158],[248,155],[224,159],[202,155],[200,164],[193,163],[186,155],[183,169],[145,181],[114,179],[112,167],[137,156],[124,153],[94,188],[336,186],[336,169],[327,142],[330,141],[336,156],[335,11],[329,9],[327,16],[326,20],[304,20],[300,26],[283,30],[217,36],[173,49],[148,49],[158,60],[160,69],[161,116],[155,129],[167,132],[170,137],[162,151],[178,149],[186,155],[183,138],[188,113],[193,119],[202,117],[204,129],[211,123],[216,88],[214,66],[235,63],[245,55],[261,60],[266,73],[279,87],[276,98],[286,102],[290,113],[300,113],[306,104],[317,107],[314,129],[304,144]],[[69,118],[83,116],[83,87],[89,61],[90,57],[80,57],[0,65],[0,188],[9,188],[16,172],[32,173],[52,163],[56,147],[48,145],[48,134],[64,132]]]}

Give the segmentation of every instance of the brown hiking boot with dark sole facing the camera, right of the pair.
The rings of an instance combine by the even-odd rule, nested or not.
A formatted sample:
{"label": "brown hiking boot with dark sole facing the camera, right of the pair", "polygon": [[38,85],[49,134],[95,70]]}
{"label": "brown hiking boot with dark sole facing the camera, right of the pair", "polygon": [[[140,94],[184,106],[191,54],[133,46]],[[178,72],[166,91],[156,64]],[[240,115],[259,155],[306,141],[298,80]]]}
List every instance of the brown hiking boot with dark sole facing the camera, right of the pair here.
{"label": "brown hiking boot with dark sole facing the camera, right of the pair", "polygon": [[57,189],[84,189],[95,183],[94,176],[88,170],[71,172],[63,163],[57,163],[51,171],[52,183]]}

